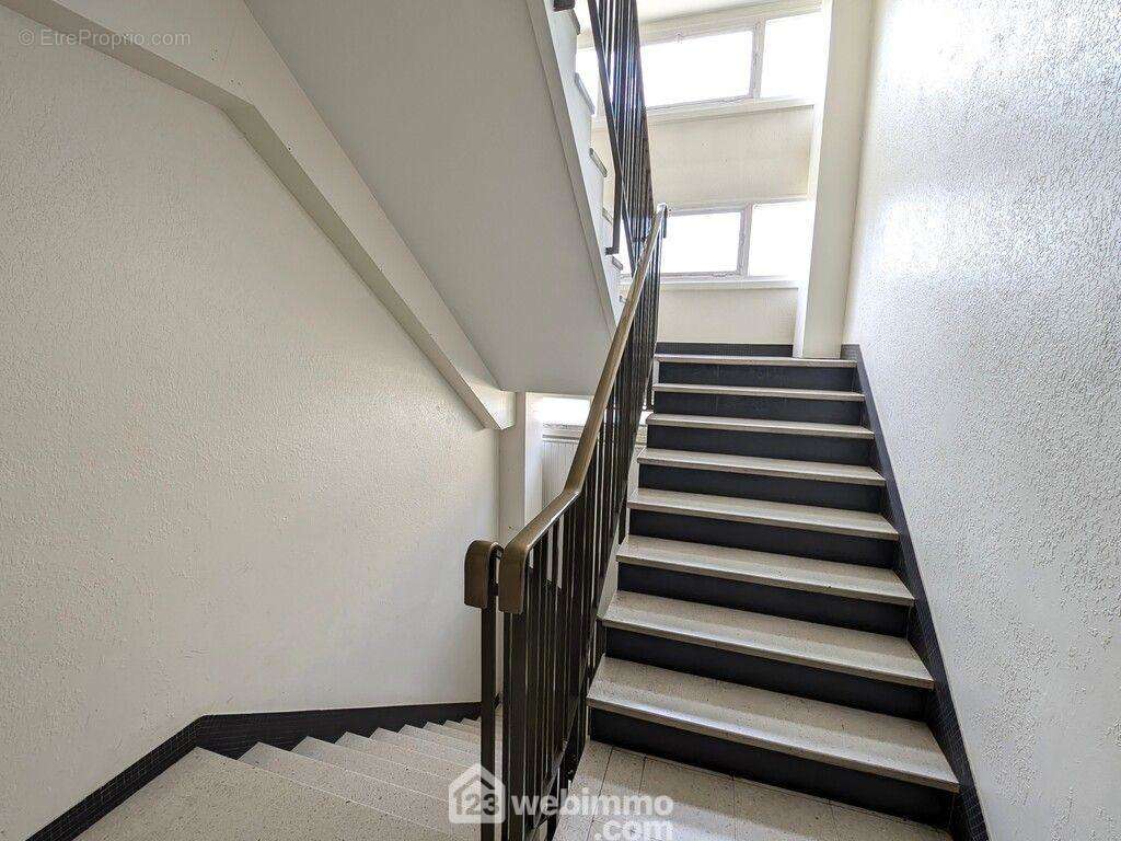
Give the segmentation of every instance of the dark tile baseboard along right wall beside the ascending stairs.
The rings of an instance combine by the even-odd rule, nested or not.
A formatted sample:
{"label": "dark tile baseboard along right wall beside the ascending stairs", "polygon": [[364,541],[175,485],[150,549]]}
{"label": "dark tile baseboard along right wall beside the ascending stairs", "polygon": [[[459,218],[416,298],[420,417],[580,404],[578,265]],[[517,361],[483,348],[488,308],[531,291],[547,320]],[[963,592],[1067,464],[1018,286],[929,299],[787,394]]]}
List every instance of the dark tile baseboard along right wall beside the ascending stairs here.
{"label": "dark tile baseboard along right wall beside the ascending stairs", "polygon": [[872,385],[869,381],[868,369],[864,367],[864,358],[861,354],[859,344],[843,345],[841,357],[842,359],[852,359],[856,362],[861,390],[864,392],[868,426],[876,433],[873,466],[880,471],[888,482],[887,503],[889,516],[895,527],[899,530],[899,562],[896,572],[899,573],[899,576],[915,597],[915,609],[910,613],[907,638],[915,646],[923,662],[926,663],[935,681],[935,691],[930,701],[930,709],[927,713],[927,724],[942,746],[946,759],[949,761],[949,766],[954,769],[954,774],[957,775],[958,783],[961,784],[961,793],[954,803],[954,808],[949,816],[949,831],[956,841],[988,841],[989,830],[985,826],[984,814],[981,811],[981,801],[978,796],[976,785],[973,782],[973,771],[970,768],[969,756],[965,752],[965,742],[962,739],[961,727],[957,723],[954,700],[949,694],[946,666],[942,657],[942,649],[938,647],[938,638],[934,630],[930,602],[927,599],[926,589],[923,586],[923,576],[919,572],[918,560],[915,556],[915,545],[911,543],[910,528],[907,525],[902,500],[899,497],[896,475],[891,469],[891,460],[888,458],[888,449],[883,438],[883,427],[880,425],[880,419],[876,412],[876,400],[872,397]]}

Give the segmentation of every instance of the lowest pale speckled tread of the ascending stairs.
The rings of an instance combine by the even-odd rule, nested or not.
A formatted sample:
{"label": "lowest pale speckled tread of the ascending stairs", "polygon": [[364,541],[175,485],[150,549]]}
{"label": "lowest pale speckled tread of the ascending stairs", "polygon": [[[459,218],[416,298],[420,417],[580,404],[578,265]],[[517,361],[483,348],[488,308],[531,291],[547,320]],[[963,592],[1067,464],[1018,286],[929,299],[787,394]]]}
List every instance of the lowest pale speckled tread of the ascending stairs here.
{"label": "lowest pale speckled tread of the ascending stairs", "polygon": [[593,708],[782,754],[957,791],[920,722],[604,657]]}

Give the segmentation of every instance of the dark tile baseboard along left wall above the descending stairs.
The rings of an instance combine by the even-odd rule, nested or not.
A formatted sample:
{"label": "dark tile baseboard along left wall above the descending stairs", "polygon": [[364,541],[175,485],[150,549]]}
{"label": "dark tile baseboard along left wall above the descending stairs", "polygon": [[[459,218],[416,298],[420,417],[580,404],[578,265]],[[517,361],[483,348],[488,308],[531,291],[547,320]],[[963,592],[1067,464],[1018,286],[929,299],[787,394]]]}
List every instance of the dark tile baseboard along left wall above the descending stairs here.
{"label": "dark tile baseboard along left wall above the descending stairs", "polygon": [[308,736],[334,741],[346,731],[372,733],[378,728],[399,730],[406,724],[419,727],[434,721],[478,715],[478,703],[204,715],[48,823],[28,841],[71,841],[77,838],[195,748],[237,758],[259,741],[289,749]]}

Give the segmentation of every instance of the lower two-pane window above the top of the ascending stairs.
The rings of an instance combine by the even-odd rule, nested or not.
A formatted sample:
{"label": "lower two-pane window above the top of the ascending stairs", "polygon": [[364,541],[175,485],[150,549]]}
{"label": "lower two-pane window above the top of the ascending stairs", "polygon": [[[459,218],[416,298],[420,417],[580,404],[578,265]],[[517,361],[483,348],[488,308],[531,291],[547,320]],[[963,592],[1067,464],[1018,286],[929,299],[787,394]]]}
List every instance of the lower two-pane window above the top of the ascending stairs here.
{"label": "lower two-pane window above the top of the ascending stairs", "polygon": [[813,203],[751,202],[731,210],[673,213],[661,253],[665,275],[731,278],[805,277]]}

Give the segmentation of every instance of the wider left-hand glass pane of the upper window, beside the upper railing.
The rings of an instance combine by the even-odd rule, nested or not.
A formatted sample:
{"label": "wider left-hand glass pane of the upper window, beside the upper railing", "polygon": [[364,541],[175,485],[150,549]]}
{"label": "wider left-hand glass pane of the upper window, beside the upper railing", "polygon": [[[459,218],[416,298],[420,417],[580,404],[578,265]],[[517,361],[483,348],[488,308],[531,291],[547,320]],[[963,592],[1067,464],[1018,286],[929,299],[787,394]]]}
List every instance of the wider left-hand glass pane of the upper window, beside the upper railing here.
{"label": "wider left-hand glass pane of the upper window, beside the upper railing", "polygon": [[642,47],[642,83],[650,108],[747,96],[751,89],[750,30],[661,41]]}

